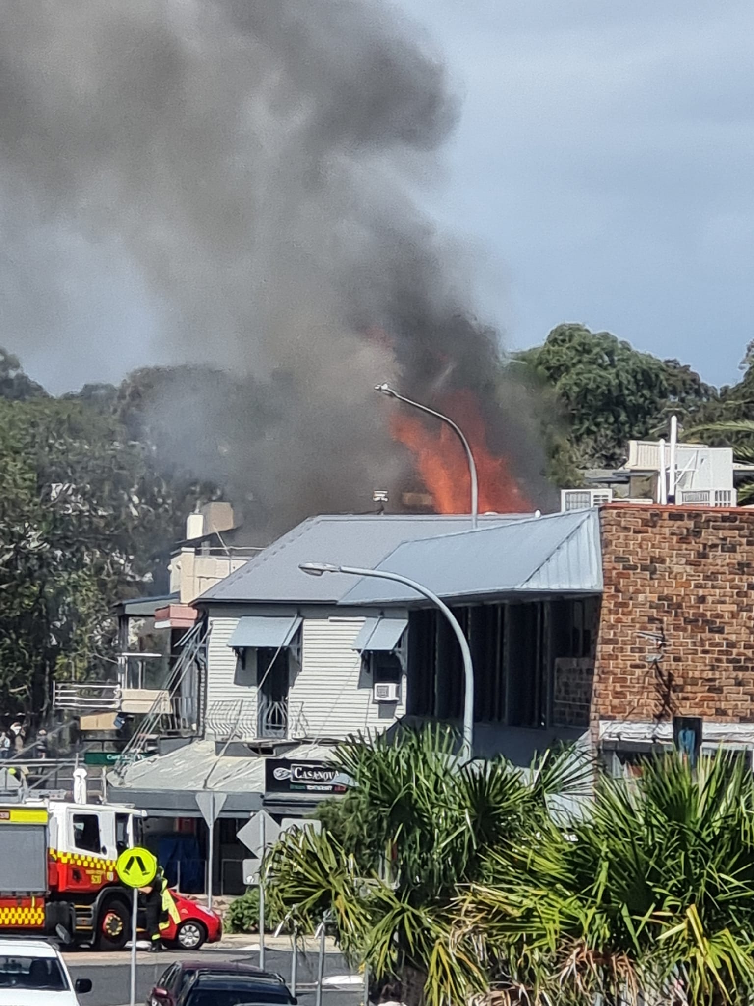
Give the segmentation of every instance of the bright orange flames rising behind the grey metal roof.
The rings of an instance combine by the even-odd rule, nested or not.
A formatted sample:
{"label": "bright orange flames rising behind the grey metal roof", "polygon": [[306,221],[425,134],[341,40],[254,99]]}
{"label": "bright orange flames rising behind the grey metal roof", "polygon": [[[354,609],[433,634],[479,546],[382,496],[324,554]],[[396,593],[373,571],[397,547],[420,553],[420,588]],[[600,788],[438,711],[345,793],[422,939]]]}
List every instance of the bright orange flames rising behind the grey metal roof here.
{"label": "bright orange flames rising behind the grey metal roof", "polygon": [[[480,513],[523,513],[531,509],[511,475],[505,458],[487,446],[485,423],[470,391],[446,395],[439,408],[458,424],[468,441],[480,483]],[[438,513],[468,513],[470,484],[463,448],[450,428],[437,424],[429,431],[422,420],[407,410],[396,410],[390,421],[394,440],[411,451],[416,467]]]}

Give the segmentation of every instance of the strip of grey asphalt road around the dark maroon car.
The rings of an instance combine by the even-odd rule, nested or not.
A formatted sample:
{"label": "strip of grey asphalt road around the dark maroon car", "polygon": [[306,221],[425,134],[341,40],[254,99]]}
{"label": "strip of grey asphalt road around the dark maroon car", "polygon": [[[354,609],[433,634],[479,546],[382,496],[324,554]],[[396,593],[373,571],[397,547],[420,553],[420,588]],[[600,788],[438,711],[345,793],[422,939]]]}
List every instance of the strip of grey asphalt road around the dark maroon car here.
{"label": "strip of grey asphalt road around the dark maroon car", "polygon": [[[253,938],[249,939],[249,943]],[[157,979],[163,971],[172,964],[173,961],[188,959],[191,955],[164,953],[158,955],[140,952],[137,960],[137,986],[136,1001],[140,1006],[147,1002],[147,996],[156,984]],[[243,951],[239,949],[221,949],[204,947],[198,952],[196,957],[208,964],[211,961],[247,961],[249,964],[258,964],[258,954],[253,951]],[[107,959],[106,959],[107,958]],[[71,978],[90,978],[92,989],[85,996],[81,996],[81,1006],[124,1006],[129,1002],[130,981],[131,981],[131,955],[123,954],[66,954],[65,960],[70,971]],[[267,950],[264,967],[269,971],[274,971],[290,982],[291,979],[291,952]],[[346,975],[347,968],[340,954],[325,955],[325,976]],[[302,1006],[314,1006],[315,993],[314,986],[317,980],[317,955],[299,954],[299,971],[297,987],[299,989],[299,1002]],[[324,989],[323,1006],[359,1006],[363,999],[362,987],[352,986],[347,989],[327,988]]]}

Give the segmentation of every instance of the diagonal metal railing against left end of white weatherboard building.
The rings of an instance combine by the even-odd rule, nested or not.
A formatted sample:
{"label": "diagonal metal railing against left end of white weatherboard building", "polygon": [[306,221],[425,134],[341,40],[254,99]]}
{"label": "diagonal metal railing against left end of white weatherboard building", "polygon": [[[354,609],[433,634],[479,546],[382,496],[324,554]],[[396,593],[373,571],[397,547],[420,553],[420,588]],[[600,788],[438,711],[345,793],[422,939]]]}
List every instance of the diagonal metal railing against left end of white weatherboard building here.
{"label": "diagonal metal railing against left end of white weatherboard building", "polygon": [[[146,747],[160,736],[181,736],[196,733],[199,726],[199,678],[206,667],[205,646],[207,627],[203,623],[193,626],[181,640],[181,654],[170,673],[170,677],[152,704],[152,708],[139,724],[134,735],[121,751],[114,772],[123,775],[127,766],[138,761]],[[194,694],[184,695],[182,686],[189,675],[196,671],[197,681]],[[165,711],[165,692],[168,693],[169,710]]]}

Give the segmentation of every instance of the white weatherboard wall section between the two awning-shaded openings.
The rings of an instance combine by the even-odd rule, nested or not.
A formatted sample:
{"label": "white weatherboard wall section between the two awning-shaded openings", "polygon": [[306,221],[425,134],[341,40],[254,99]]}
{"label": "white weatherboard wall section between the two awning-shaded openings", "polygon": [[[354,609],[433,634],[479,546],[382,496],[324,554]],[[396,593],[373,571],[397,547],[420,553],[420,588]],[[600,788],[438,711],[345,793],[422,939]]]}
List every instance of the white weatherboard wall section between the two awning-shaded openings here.
{"label": "white weatherboard wall section between the two awning-shaded openings", "polygon": [[[302,668],[292,682],[289,703],[303,706],[313,737],[345,737],[358,730],[385,730],[405,712],[405,678],[397,704],[372,700],[372,676],[362,671],[353,649],[364,619],[306,619],[302,626]],[[387,714],[387,715],[386,715]]]}

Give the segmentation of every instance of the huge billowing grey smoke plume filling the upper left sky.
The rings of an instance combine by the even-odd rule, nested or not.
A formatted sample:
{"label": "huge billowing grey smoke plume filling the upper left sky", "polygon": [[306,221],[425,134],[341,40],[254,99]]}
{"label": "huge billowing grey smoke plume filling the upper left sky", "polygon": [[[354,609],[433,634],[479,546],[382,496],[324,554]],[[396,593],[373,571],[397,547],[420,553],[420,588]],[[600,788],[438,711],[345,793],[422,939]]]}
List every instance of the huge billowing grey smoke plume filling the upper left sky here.
{"label": "huge billowing grey smoke plume filling the upper left sky", "polygon": [[69,385],[227,371],[225,395],[192,370],[165,382],[155,426],[275,530],[400,479],[385,378],[430,400],[474,389],[492,446],[538,470],[493,401],[472,264],[410,198],[457,108],[390,6],[0,6],[0,331],[27,366],[51,356]]}

